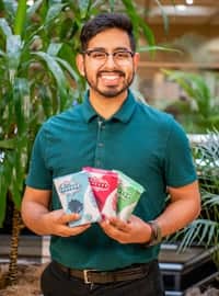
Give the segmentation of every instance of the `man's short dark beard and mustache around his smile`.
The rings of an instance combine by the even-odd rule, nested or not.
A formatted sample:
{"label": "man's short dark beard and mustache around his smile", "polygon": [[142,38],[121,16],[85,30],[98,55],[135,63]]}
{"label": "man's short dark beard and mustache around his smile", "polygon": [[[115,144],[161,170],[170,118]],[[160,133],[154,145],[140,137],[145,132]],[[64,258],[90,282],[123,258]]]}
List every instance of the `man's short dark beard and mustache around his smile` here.
{"label": "man's short dark beard and mustache around his smile", "polygon": [[107,86],[107,88],[105,88],[104,90],[102,90],[101,88],[99,88],[99,78],[101,77],[101,73],[104,72],[106,73],[107,71],[99,71],[96,73],[96,79],[95,81],[91,80],[87,73],[87,71],[84,71],[84,78],[87,79],[88,84],[90,86],[90,88],[92,90],[94,90],[96,93],[101,94],[104,98],[115,98],[119,94],[122,94],[123,92],[127,91],[128,88],[131,86],[134,78],[135,78],[135,71],[131,72],[131,75],[129,77],[126,77],[125,73],[123,71],[108,71],[108,72],[117,72],[119,73],[119,76],[124,77],[124,83],[117,88],[114,86]]}

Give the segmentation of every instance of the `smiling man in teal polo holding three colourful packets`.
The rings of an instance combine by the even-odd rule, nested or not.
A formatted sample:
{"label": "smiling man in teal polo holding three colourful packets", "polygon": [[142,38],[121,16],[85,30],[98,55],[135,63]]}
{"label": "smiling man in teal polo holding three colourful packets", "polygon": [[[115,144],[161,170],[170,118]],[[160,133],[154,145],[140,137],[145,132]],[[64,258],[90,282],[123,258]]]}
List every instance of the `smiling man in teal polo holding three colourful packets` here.
{"label": "smiling man in teal polo holding three colourful packets", "polygon": [[[90,89],[81,105],[41,128],[22,203],[26,226],[51,236],[42,289],[44,296],[164,295],[161,239],[200,210],[189,145],[170,115],[137,102],[129,91],[139,55],[127,16],[100,14],[80,39],[77,65]],[[68,226],[79,215],[64,213],[53,179],[83,167],[123,171],[146,189],[128,221],[106,217]]]}

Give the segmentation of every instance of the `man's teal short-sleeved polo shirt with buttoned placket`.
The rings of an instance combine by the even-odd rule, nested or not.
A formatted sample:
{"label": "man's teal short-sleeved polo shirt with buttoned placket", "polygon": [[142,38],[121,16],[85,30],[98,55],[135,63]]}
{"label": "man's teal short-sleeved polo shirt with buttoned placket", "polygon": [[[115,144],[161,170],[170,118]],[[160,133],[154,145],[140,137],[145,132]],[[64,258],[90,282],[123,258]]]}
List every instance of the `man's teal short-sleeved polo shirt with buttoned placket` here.
{"label": "man's teal short-sleeved polo shirt with buttoned placket", "polygon": [[[134,214],[154,219],[165,206],[166,185],[183,186],[196,180],[189,144],[172,116],[137,102],[129,91],[118,112],[102,118],[89,101],[49,118],[33,147],[26,184],[53,190],[53,209],[60,202],[53,179],[83,167],[119,170],[145,189]],[[120,244],[99,224],[79,236],[51,236],[51,259],[74,269],[114,270],[158,258],[159,246]]]}

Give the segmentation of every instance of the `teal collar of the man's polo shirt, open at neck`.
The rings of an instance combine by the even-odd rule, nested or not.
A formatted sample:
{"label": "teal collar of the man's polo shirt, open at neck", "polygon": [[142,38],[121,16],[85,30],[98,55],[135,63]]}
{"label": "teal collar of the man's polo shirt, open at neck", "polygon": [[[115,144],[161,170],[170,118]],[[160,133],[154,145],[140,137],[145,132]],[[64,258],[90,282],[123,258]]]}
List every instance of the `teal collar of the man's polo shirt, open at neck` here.
{"label": "teal collar of the man's polo shirt, open at neck", "polygon": [[[128,90],[128,96],[124,101],[123,105],[120,109],[112,116],[112,118],[115,118],[119,122],[127,123],[129,122],[134,110],[136,107],[136,100],[134,98],[134,94],[131,93],[130,90]],[[95,112],[95,110],[92,107],[90,100],[89,100],[89,91],[87,91],[84,95],[84,101],[83,101],[83,116],[87,123],[91,122],[94,117],[97,117],[99,114]],[[112,119],[111,118],[111,119]]]}

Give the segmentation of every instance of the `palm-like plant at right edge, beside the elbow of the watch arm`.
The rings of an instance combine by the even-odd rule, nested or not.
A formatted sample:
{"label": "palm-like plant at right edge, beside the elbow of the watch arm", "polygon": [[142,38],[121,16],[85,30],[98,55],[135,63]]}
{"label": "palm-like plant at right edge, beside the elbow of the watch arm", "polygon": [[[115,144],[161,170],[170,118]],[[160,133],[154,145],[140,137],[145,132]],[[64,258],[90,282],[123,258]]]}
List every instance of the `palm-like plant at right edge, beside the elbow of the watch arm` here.
{"label": "palm-like plant at right edge, beside the elbow of the watch arm", "polygon": [[212,248],[212,260],[219,269],[219,132],[209,132],[193,147],[201,194],[198,219],[183,229],[180,249],[195,244]]}

